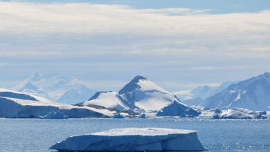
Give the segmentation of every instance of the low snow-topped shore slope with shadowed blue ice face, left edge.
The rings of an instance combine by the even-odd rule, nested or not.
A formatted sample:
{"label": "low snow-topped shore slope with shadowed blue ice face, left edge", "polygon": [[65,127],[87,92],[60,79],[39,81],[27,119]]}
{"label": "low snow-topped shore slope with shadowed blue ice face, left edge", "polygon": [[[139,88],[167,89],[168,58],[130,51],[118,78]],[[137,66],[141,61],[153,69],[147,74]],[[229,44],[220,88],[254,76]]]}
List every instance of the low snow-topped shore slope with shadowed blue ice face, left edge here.
{"label": "low snow-topped shore slope with shadowed blue ice face, left edge", "polygon": [[107,109],[71,106],[48,99],[0,88],[0,117],[39,118],[48,113],[63,113],[67,117],[111,117]]}

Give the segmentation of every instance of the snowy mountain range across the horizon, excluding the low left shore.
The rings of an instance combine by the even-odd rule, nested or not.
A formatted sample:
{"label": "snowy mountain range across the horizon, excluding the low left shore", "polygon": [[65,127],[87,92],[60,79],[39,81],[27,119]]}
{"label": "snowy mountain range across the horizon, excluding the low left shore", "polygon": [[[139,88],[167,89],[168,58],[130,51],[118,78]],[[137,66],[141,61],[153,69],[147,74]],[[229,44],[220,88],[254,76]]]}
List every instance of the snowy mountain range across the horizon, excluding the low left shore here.
{"label": "snowy mountain range across the horizon, excluding the low left shore", "polygon": [[34,73],[12,89],[60,103],[102,106],[118,111],[160,111],[174,102],[184,103],[186,107],[195,105],[205,108],[270,110],[270,73],[241,82],[224,82],[220,86],[197,86],[191,90],[174,93],[169,93],[143,76],[134,77],[118,92],[96,92],[73,77]]}

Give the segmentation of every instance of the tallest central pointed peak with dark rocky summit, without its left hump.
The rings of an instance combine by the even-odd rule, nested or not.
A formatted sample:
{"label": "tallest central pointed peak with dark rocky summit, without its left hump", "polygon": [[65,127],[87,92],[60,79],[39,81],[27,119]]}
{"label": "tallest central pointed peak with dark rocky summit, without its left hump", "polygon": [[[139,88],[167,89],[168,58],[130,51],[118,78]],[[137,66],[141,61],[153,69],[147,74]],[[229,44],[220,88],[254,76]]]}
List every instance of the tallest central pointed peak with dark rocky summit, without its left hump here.
{"label": "tallest central pointed peak with dark rocky summit, without its left hump", "polygon": [[125,85],[118,94],[125,99],[124,104],[129,108],[141,108],[145,111],[159,111],[174,101],[180,102],[172,93],[157,86],[147,77],[139,75]]}

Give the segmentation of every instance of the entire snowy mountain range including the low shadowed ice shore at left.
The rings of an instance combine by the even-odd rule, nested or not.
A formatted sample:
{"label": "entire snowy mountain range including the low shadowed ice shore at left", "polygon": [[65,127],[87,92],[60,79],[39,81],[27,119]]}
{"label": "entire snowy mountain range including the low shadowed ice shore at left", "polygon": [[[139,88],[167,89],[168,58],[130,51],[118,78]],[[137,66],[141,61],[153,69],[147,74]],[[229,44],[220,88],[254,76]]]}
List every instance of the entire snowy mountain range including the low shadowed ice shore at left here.
{"label": "entire snowy mountain range including the low shadowed ice shore at left", "polygon": [[13,89],[19,92],[0,88],[0,117],[39,117],[50,112],[63,113],[67,117],[111,117],[116,113],[130,116],[143,112],[156,112],[156,116],[196,117],[206,108],[270,110],[270,73],[241,82],[226,82],[218,87],[198,86],[190,90],[184,102],[197,102],[196,105],[204,107],[201,110],[184,104],[173,93],[140,75],[118,92],[93,94],[95,91],[75,78],[39,73]]}

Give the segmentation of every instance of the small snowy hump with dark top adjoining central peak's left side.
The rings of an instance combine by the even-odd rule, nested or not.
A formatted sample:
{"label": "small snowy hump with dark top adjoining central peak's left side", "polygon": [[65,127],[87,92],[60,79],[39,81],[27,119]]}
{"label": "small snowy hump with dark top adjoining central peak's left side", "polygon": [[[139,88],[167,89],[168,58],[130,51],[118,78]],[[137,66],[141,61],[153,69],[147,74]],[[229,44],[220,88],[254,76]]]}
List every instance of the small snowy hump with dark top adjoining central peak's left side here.
{"label": "small snowy hump with dark top adjoining central peak's left side", "polygon": [[104,106],[105,108],[116,108],[119,111],[129,109],[122,102],[122,98],[118,93],[113,91],[100,91],[97,92],[89,101],[82,103],[82,105],[87,106],[89,104]]}

